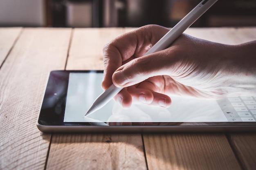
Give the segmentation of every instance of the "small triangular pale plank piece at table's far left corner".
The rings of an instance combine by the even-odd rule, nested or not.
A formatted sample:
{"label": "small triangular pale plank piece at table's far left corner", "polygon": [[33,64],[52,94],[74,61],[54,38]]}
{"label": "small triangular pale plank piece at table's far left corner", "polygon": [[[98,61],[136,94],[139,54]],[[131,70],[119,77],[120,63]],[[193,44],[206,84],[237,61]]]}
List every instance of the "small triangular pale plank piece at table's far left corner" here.
{"label": "small triangular pale plank piece at table's far left corner", "polygon": [[21,30],[21,27],[0,28],[0,66],[7,57]]}

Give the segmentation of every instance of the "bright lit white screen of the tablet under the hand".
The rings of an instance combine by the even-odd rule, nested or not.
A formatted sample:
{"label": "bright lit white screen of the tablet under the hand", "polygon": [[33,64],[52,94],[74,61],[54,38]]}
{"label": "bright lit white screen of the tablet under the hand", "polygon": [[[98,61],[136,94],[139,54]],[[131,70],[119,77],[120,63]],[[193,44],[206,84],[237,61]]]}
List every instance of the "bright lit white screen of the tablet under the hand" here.
{"label": "bright lit white screen of the tablet under the hand", "polygon": [[113,99],[84,117],[103,92],[103,73],[69,73],[63,122],[230,122],[255,121],[254,96],[202,100],[171,96],[169,108],[132,105],[124,109]]}

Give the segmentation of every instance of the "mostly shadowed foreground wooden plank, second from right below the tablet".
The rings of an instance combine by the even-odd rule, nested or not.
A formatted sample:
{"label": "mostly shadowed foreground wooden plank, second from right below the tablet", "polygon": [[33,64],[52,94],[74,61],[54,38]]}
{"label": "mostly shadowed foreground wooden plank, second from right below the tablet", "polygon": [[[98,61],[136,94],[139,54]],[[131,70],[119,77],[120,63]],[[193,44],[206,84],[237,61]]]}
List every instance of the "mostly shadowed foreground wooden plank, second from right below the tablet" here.
{"label": "mostly shadowed foreground wooden plank, second from right below the tablet", "polygon": [[144,135],[148,170],[240,170],[222,134]]}

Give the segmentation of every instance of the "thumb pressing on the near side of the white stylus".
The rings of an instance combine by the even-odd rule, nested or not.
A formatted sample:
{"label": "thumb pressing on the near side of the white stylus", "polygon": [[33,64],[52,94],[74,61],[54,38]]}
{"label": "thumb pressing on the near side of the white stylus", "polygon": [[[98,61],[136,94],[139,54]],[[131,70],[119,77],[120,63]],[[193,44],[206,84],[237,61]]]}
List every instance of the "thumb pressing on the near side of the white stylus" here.
{"label": "thumb pressing on the near side of the white stylus", "polygon": [[160,52],[135,58],[113,73],[112,82],[115,86],[124,88],[156,75],[168,75],[170,65],[165,58]]}

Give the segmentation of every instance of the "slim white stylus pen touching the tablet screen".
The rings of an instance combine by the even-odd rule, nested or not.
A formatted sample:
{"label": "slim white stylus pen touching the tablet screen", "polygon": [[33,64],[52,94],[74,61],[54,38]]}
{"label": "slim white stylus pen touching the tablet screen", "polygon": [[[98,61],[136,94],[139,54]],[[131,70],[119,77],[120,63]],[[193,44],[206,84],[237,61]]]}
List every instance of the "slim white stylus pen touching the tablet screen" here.
{"label": "slim white stylus pen touching the tablet screen", "polygon": [[[191,26],[202,14],[205,13],[218,0],[203,0],[192,11],[190,11],[180,22],[178,22],[166,35],[164,35],[151,49],[144,55],[155,53],[166,49],[171,45],[189,26]],[[143,56],[144,56],[143,55]],[[106,91],[101,93],[89,108],[85,116],[99,110],[105,106],[122,88],[112,84]]]}

